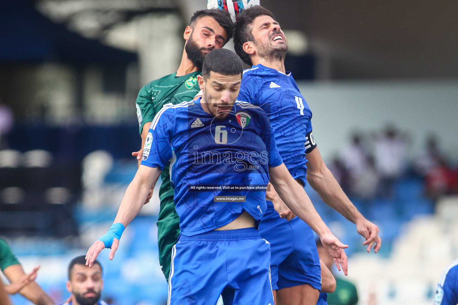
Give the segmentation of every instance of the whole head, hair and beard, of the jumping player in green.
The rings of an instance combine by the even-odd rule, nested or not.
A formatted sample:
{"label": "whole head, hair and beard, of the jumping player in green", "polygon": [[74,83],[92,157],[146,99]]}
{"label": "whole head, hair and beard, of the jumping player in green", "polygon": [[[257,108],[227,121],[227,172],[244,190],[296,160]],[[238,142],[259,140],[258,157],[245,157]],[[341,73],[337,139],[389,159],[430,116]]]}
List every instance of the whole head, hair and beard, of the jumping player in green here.
{"label": "whole head, hair and beard, of the jumping player in green", "polygon": [[213,49],[223,48],[232,37],[233,27],[227,11],[196,11],[183,34],[187,58],[202,70],[205,55]]}

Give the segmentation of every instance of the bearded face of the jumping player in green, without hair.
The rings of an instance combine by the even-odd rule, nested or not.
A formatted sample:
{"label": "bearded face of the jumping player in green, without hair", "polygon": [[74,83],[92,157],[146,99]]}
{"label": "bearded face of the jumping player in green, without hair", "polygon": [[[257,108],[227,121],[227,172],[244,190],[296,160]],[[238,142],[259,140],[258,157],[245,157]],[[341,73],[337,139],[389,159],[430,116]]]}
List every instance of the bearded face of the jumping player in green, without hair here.
{"label": "bearded face of the jumping player in green, without hair", "polygon": [[194,28],[186,27],[183,37],[187,57],[199,70],[202,70],[205,55],[215,48],[223,48],[227,41],[226,30],[210,16],[198,19]]}

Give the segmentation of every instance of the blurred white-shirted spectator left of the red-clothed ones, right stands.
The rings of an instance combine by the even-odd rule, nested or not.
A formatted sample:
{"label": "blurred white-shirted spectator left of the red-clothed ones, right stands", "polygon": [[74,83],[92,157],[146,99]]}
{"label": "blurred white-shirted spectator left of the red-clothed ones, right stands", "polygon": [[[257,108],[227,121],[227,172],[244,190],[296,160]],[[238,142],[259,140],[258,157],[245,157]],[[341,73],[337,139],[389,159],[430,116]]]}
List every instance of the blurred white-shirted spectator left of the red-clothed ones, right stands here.
{"label": "blurred white-shirted spectator left of the red-clothed ones, right stands", "polygon": [[393,125],[388,125],[382,134],[374,139],[375,165],[381,177],[385,195],[393,193],[393,182],[407,167],[407,136],[401,134]]}

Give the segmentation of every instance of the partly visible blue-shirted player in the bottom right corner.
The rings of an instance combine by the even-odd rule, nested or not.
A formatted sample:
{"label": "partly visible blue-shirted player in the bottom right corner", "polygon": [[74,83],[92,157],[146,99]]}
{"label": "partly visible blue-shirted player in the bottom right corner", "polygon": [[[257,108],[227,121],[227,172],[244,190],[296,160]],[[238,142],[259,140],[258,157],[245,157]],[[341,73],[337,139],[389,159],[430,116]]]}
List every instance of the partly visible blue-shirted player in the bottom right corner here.
{"label": "partly visible blue-shirted player in the bottom right corner", "polygon": [[458,259],[451,262],[437,283],[434,305],[458,304]]}

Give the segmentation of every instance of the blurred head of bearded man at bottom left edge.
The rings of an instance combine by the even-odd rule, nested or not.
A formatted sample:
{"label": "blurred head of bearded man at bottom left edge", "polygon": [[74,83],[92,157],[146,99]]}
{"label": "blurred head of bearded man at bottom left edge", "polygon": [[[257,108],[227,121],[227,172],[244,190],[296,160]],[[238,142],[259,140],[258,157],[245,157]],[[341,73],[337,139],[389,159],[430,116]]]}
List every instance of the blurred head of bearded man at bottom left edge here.
{"label": "blurred head of bearded man at bottom left edge", "polygon": [[96,304],[104,288],[102,265],[96,260],[93,267],[89,268],[84,255],[75,257],[68,265],[66,288],[72,294],[73,305]]}

